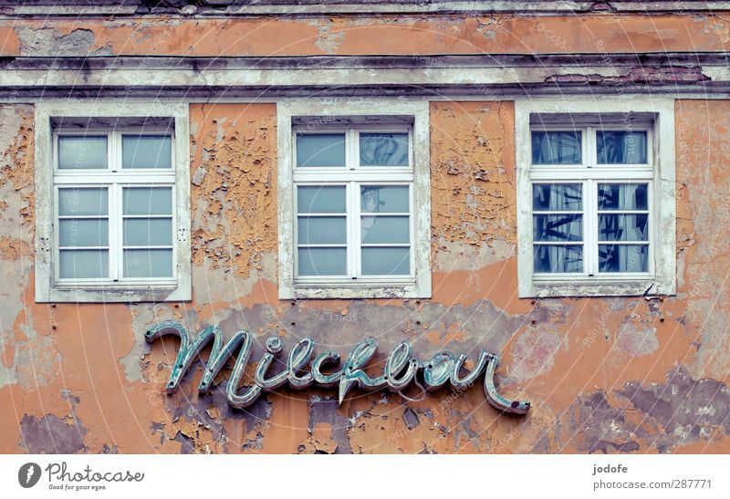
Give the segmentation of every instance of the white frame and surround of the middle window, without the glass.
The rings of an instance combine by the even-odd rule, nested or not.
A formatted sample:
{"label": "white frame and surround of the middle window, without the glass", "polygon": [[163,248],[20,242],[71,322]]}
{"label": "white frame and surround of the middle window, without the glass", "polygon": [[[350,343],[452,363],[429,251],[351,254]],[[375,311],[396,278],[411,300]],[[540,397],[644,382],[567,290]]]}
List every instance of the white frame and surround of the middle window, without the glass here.
{"label": "white frame and surround of the middle window, without the glass", "polygon": [[[403,99],[291,99],[277,106],[279,298],[430,297],[429,109],[426,101]],[[412,118],[412,126],[378,124],[382,115]],[[367,116],[367,125],[293,126],[294,117]],[[328,120],[321,120],[327,123]],[[374,122],[373,122],[374,121]],[[298,132],[346,134],[346,166],[297,168]],[[409,166],[360,167],[360,132],[408,132]],[[297,186],[346,185],[348,275],[297,276]],[[360,185],[409,185],[411,275],[360,275]],[[376,244],[383,246],[387,244]],[[354,251],[353,251],[354,250]]]}

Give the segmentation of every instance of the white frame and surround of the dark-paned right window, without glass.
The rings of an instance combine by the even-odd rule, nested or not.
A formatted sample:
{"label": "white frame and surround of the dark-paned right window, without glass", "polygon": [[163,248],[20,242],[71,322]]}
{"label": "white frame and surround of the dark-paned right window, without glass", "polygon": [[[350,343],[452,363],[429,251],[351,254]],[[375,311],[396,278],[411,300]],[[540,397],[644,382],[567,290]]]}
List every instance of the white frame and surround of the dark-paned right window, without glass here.
{"label": "white frame and surround of the dark-paned right window, without glass", "polygon": [[[590,117],[573,124],[570,113]],[[651,113],[652,124],[610,123],[601,116]],[[530,125],[531,115],[566,114],[561,124]],[[551,122],[552,123],[552,122]],[[581,165],[533,165],[531,131],[581,130]],[[599,165],[597,130],[647,131],[647,164]],[[676,293],[674,103],[672,99],[519,99],[516,101],[517,275],[520,297],[643,296]],[[534,183],[581,183],[583,272],[537,274],[533,261]],[[598,272],[598,183],[649,185],[649,268],[646,273]],[[621,212],[618,212],[621,213]]]}

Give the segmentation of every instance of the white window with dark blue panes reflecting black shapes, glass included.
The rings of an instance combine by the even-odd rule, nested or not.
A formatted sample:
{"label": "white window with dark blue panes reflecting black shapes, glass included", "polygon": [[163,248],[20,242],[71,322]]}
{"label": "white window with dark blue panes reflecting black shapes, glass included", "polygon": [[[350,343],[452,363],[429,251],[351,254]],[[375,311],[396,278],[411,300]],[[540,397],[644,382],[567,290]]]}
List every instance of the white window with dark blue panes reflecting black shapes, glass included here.
{"label": "white window with dark blue panes reflecting black shapes, glass included", "polygon": [[657,189],[673,143],[658,114],[523,117],[520,296],[673,293],[673,187]]}

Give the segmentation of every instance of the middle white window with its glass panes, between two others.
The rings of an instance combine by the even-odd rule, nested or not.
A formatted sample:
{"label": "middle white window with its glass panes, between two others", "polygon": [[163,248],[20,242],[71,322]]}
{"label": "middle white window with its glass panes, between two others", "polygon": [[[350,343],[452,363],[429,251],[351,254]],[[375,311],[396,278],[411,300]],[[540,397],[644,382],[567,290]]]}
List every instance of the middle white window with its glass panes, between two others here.
{"label": "middle white window with its glass panes, between two others", "polygon": [[280,189],[291,192],[281,231],[290,257],[280,260],[291,280],[280,296],[430,294],[427,238],[417,231],[428,217],[416,208],[428,199],[415,182],[428,168],[415,135],[423,125],[413,115],[290,120],[291,183]]}

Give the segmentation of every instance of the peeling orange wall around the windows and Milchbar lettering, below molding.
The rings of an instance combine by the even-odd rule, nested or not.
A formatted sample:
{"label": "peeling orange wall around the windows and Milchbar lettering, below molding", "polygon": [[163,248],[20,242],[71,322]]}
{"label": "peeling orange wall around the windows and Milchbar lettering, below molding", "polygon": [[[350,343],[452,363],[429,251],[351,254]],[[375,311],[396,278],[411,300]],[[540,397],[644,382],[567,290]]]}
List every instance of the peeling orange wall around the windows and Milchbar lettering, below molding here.
{"label": "peeling orange wall around the windows and Milchbar lettering, below molding", "polygon": [[[279,302],[276,106],[193,104],[193,302],[54,306],[33,301],[33,107],[0,106],[0,452],[730,452],[730,101],[676,113],[675,297],[516,298],[505,101],[431,106],[432,299]],[[199,364],[166,396],[177,340],[142,338],[163,319],[287,347],[375,335],[374,370],[403,339],[422,358],[488,348],[501,390],[533,407],[500,415],[474,387],[356,390],[339,408],[333,390],[279,390],[237,411],[198,395]]]}

